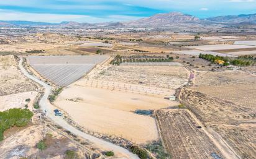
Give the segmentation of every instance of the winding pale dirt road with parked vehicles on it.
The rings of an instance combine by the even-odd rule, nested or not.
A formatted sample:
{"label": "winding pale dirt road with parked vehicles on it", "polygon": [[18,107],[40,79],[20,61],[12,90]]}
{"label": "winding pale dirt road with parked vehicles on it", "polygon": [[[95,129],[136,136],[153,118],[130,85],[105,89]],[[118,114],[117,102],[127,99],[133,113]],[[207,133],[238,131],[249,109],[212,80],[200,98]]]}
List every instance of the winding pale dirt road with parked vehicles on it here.
{"label": "winding pale dirt road with parked vehicles on it", "polygon": [[62,126],[64,129],[72,132],[73,134],[79,135],[84,139],[89,140],[90,142],[93,142],[93,144],[95,144],[97,147],[103,148],[104,150],[112,150],[114,153],[122,154],[126,158],[139,159],[137,155],[129,152],[128,150],[126,150],[126,148],[119,147],[118,145],[112,144],[111,142],[106,142],[103,139],[98,139],[92,135],[86,134],[85,132],[79,131],[75,127],[68,124],[68,122],[66,122],[65,119],[59,116],[55,116],[53,114],[54,106],[51,105],[51,103],[48,101],[48,95],[50,95],[52,87],[48,84],[45,84],[45,82],[43,82],[42,80],[39,80],[34,75],[30,75],[22,66],[22,62],[23,62],[23,59],[21,58],[21,60],[19,61],[19,68],[21,69],[22,74],[24,74],[29,79],[34,80],[35,82],[37,82],[38,84],[42,85],[45,88],[44,95],[40,99],[39,105],[43,111],[45,110],[47,111],[46,116],[48,118],[52,119],[53,122]]}

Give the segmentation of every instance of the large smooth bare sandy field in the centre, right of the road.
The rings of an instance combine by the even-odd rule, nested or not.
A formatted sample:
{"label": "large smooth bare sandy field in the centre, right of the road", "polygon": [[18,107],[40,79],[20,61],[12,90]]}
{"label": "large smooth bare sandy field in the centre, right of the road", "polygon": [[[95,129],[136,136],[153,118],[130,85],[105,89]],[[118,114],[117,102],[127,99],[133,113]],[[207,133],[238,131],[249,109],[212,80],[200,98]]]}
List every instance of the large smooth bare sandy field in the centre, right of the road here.
{"label": "large smooth bare sandy field in the centre, right of the road", "polygon": [[170,103],[162,98],[74,84],[60,93],[55,105],[70,114],[85,129],[117,135],[142,144],[158,138],[155,120],[130,111],[137,108],[166,108]]}

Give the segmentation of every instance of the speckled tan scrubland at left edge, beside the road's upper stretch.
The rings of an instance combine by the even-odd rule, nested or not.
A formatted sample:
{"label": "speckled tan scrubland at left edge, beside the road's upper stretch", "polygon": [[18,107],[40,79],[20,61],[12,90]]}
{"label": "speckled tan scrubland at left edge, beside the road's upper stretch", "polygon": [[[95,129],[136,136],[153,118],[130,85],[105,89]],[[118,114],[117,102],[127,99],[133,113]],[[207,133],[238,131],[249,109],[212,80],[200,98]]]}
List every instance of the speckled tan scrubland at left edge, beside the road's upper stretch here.
{"label": "speckled tan scrubland at left edge, beside the road's upper stretch", "polygon": [[38,90],[37,85],[26,79],[17,66],[14,56],[0,56],[0,96]]}

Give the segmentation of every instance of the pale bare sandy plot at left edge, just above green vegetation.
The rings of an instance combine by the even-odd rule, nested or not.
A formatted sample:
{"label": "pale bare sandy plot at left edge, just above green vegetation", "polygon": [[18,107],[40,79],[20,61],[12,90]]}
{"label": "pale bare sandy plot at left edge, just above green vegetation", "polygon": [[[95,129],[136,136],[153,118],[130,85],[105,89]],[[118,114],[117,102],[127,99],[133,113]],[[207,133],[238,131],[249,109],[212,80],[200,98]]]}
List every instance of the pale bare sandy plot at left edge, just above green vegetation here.
{"label": "pale bare sandy plot at left edge, just above green vegetation", "polygon": [[[12,95],[0,96],[0,111],[9,110],[11,108],[25,108],[27,104],[29,110],[32,111],[33,103],[37,97],[37,92],[24,92]],[[30,99],[30,101],[25,101]]]}

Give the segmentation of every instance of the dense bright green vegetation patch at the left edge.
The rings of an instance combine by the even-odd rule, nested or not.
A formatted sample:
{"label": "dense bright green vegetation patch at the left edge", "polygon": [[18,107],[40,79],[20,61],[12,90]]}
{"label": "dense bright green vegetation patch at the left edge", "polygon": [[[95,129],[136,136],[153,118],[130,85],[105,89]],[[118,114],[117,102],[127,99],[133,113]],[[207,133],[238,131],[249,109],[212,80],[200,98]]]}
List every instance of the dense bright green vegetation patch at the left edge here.
{"label": "dense bright green vegetation patch at the left edge", "polygon": [[28,109],[10,109],[0,112],[0,140],[4,139],[4,131],[12,126],[22,127],[29,123],[33,113]]}

